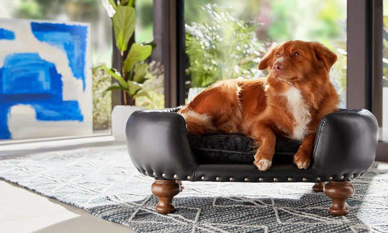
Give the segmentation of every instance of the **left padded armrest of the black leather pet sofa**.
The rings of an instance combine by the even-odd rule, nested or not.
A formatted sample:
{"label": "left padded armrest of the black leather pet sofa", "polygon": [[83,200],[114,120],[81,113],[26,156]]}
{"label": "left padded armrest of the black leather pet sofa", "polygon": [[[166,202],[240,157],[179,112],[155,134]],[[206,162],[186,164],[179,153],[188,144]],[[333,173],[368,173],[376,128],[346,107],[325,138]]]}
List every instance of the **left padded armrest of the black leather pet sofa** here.
{"label": "left padded armrest of the black leather pet sofa", "polygon": [[177,111],[178,108],[139,110],[128,118],[128,152],[140,173],[164,179],[193,177],[197,163],[185,119]]}

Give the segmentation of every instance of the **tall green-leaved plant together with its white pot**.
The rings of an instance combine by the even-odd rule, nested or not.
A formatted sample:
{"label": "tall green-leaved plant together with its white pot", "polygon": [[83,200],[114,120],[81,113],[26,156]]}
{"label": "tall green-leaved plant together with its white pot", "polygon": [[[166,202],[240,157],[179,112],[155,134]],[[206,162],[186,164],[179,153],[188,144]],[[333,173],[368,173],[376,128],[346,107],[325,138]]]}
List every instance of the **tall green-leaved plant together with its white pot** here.
{"label": "tall green-leaved plant together with its white pot", "polygon": [[112,19],[116,47],[120,51],[121,70],[100,65],[98,68],[105,70],[117,83],[112,84],[105,91],[119,90],[124,97],[124,105],[115,106],[111,115],[112,134],[117,141],[125,140],[125,124],[128,117],[140,107],[135,106],[135,99],[139,96],[149,95],[143,90],[146,80],[147,64],[139,63],[147,59],[152,53],[152,43],[134,43],[127,51],[129,39],[135,29],[134,0],[102,0],[108,16]]}

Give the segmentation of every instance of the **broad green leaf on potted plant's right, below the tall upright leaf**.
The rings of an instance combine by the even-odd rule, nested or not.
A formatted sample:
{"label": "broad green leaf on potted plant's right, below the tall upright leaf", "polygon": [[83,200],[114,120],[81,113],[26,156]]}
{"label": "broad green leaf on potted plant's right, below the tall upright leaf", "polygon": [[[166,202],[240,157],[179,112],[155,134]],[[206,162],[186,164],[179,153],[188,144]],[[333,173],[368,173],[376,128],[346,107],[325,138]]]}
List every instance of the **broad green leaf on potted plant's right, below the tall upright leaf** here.
{"label": "broad green leaf on potted plant's right, below the tall upright leaf", "polygon": [[142,44],[132,44],[127,58],[124,60],[124,70],[130,72],[133,66],[151,56],[152,46]]}

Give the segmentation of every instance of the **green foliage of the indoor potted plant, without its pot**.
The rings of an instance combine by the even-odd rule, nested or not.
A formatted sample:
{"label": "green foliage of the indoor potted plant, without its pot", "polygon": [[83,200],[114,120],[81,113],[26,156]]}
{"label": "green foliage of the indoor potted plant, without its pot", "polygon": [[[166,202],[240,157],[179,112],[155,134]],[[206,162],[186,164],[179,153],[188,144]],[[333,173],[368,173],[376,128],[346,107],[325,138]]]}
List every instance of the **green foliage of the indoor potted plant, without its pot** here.
{"label": "green foliage of the indoor potted plant, without its pot", "polygon": [[[125,56],[129,39],[135,30],[135,1],[121,0],[115,2],[115,0],[109,0],[109,5],[106,6],[105,4],[104,6],[108,16],[112,18],[116,47],[120,51],[121,70],[117,71],[114,68],[108,68],[106,65],[100,65],[98,68],[105,70],[118,81],[113,83],[106,91],[120,90],[124,95],[124,105],[135,105],[136,98],[140,96],[149,97],[143,89],[143,83],[147,80],[146,69],[148,65],[137,63],[151,56],[152,45],[134,43]],[[126,95],[129,97],[129,103],[127,103]]]}

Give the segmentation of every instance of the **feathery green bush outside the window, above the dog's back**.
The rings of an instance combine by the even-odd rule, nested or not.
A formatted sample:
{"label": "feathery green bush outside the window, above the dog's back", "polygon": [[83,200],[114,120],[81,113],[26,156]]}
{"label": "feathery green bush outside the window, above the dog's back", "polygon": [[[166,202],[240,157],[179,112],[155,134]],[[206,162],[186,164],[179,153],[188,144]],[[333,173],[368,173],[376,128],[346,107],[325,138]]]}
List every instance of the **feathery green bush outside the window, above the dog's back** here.
{"label": "feathery green bush outside the window, above the dog's back", "polygon": [[192,87],[206,87],[220,78],[258,77],[258,58],[265,45],[255,37],[252,22],[231,16],[231,7],[201,6],[211,24],[186,25],[186,53]]}

